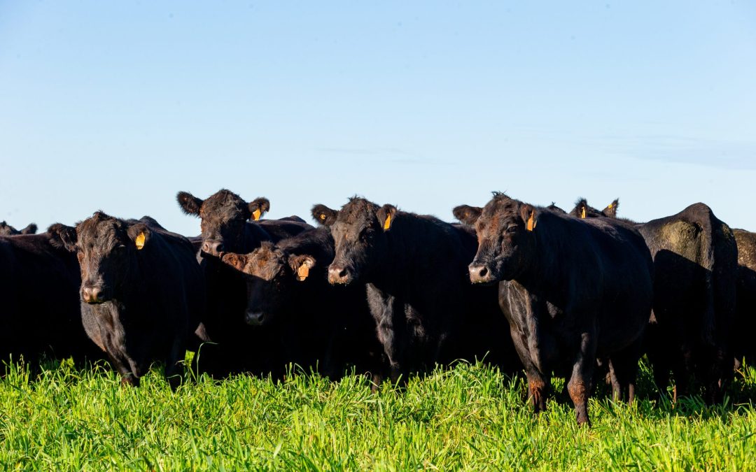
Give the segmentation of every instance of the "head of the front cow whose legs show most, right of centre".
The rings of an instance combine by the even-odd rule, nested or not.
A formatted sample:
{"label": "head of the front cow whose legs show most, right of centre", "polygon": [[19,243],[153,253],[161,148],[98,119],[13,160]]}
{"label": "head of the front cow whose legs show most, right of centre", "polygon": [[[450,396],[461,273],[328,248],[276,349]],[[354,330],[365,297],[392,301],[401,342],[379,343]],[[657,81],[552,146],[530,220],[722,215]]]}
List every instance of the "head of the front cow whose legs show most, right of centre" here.
{"label": "head of the front cow whose legs show most, right of centre", "polygon": [[470,280],[488,283],[515,278],[534,256],[534,231],[541,211],[497,192],[483,208],[454,208],[454,217],[475,227],[478,236],[478,252],[468,267]]}

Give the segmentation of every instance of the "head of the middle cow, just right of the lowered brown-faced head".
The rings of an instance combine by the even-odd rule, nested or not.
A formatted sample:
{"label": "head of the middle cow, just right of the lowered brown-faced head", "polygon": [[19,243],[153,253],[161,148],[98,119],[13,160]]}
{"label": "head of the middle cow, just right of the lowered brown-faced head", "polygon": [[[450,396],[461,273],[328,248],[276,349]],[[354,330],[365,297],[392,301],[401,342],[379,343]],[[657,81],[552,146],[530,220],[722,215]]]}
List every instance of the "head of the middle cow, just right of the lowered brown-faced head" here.
{"label": "head of the middle cow, just right of the lowered brown-faced head", "polygon": [[348,284],[361,279],[387,257],[386,232],[392,229],[397,209],[352,197],[341,210],[312,207],[312,217],[330,228],[336,255],[328,267],[328,282]]}

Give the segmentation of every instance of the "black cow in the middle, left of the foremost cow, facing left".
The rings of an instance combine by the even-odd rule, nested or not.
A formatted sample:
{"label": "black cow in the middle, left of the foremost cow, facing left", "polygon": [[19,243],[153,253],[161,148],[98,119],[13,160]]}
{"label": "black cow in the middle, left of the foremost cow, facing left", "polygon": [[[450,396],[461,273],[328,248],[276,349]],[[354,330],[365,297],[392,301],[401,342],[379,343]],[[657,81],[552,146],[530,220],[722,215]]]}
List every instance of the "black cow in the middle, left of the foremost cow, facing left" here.
{"label": "black cow in the middle, left of the foremost cow, facing left", "polygon": [[436,362],[484,356],[516,369],[495,288],[467,279],[476,251],[471,231],[359,197],[339,211],[315,205],[312,215],[335,242],[329,282],[367,284],[392,381],[407,381]]}

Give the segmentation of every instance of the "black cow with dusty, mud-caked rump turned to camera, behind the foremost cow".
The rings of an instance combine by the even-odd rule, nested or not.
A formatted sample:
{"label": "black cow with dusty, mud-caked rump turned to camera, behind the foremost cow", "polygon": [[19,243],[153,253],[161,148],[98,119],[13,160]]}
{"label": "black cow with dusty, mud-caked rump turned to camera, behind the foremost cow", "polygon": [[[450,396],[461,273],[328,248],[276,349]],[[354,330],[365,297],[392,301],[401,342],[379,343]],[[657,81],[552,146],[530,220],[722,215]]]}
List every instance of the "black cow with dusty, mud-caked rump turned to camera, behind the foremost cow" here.
{"label": "black cow with dusty, mud-caked rump turned to camera, behind the foremost cow", "polygon": [[[617,217],[615,200],[603,211],[578,200],[578,217]],[[720,401],[733,375],[731,328],[736,316],[738,248],[733,231],[707,205],[695,203],[635,227],[654,259],[654,309],[646,353],[660,392],[674,374],[674,400],[691,392],[690,378],[705,387],[708,403]]]}

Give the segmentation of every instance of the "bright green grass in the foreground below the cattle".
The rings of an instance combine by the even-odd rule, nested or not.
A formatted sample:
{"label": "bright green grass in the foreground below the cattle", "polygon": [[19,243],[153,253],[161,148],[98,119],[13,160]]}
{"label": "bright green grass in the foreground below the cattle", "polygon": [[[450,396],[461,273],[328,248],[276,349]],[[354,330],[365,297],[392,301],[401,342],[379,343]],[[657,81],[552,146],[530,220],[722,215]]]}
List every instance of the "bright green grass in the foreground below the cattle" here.
{"label": "bright green grass in the foreground below the cattle", "polygon": [[524,382],[485,366],[376,394],[355,375],[200,378],[173,394],[158,369],[129,388],[106,367],[47,362],[29,381],[11,366],[0,381],[0,468],[756,470],[756,415],[738,403],[756,387],[753,369],[715,407],[658,406],[649,377],[644,369],[634,406],[591,400],[587,428],[569,403],[534,417]]}

